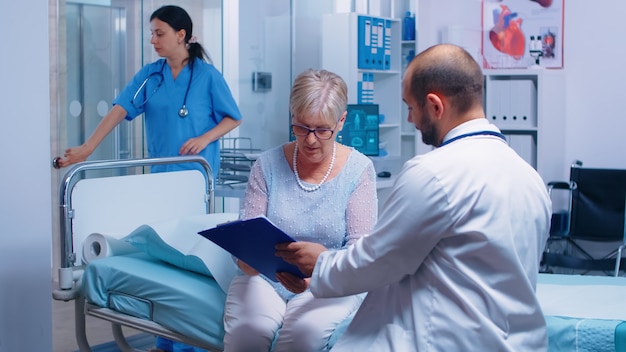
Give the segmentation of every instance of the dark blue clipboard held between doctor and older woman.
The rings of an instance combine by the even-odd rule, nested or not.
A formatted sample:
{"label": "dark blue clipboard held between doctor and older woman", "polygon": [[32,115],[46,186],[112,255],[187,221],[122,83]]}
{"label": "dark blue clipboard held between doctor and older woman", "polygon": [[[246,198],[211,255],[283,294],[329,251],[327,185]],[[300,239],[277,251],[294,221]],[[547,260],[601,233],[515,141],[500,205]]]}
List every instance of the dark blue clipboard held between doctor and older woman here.
{"label": "dark blue clipboard held between doctor and older woman", "polygon": [[198,233],[272,281],[278,281],[276,273],[279,272],[305,277],[297,266],[274,255],[276,244],[295,240],[266,217],[230,221]]}

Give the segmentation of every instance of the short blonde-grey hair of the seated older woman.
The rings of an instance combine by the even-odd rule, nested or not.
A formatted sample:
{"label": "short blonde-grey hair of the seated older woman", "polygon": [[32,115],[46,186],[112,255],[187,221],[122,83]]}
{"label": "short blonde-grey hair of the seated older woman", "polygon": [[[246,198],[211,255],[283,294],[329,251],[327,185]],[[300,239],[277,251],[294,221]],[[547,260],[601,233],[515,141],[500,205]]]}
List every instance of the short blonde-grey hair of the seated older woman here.
{"label": "short blonde-grey hair of the seated older woman", "polygon": [[348,105],[348,87],[339,75],[327,70],[309,69],[293,82],[289,96],[291,117],[317,115],[337,123]]}

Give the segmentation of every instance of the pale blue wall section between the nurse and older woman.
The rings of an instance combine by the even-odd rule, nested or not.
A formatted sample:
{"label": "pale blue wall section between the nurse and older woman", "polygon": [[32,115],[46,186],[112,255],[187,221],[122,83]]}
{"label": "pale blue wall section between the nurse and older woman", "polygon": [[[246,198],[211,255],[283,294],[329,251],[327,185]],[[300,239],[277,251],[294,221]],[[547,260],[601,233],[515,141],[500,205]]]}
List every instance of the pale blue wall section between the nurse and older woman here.
{"label": "pale blue wall section between the nurse and older woman", "polygon": [[[239,6],[240,35],[236,57],[239,72],[236,84],[239,88],[239,109],[243,115],[239,136],[251,138],[254,148],[269,149],[289,140],[289,14],[288,0],[241,0]],[[252,90],[252,72],[255,71],[272,75],[271,90]],[[242,142],[239,147],[247,148],[249,145]]]}

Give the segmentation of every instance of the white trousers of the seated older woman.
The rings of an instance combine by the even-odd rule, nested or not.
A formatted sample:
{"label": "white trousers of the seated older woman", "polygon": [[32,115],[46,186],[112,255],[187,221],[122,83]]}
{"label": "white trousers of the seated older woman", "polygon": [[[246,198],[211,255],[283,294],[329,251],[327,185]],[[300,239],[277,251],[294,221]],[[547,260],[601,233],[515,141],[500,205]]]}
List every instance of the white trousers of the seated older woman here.
{"label": "white trousers of the seated older woman", "polygon": [[224,352],[323,351],[363,295],[314,298],[305,291],[287,303],[260,276],[238,275],[224,310]]}

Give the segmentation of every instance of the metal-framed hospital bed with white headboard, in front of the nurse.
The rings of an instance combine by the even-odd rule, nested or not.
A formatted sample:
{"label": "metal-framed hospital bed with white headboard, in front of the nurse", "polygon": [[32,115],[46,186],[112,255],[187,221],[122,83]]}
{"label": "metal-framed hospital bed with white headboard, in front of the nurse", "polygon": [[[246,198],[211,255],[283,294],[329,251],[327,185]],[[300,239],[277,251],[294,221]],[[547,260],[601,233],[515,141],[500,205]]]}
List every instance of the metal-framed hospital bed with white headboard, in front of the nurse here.
{"label": "metal-framed hospital bed with white headboard, in front of the nurse", "polygon": [[[136,170],[175,163],[195,163],[203,172],[139,171],[135,175],[83,178],[85,173],[98,170]],[[230,255],[211,247],[210,241],[195,231],[236,219],[237,214],[214,213],[212,175],[206,160],[196,156],[84,162],[68,169],[59,193],[59,287],[52,294],[57,300],[74,301],[80,351],[91,351],[85,316],[111,322],[113,338],[122,351],[134,351],[122,326],[209,351],[221,350],[224,287],[228,276],[234,274],[234,264]],[[218,275],[202,267],[204,263],[196,257],[186,255],[189,251],[180,251],[180,246],[172,247],[171,241],[159,242],[155,237],[156,225],[161,225],[161,231],[169,226],[170,232],[176,232],[182,226],[180,219],[186,219],[183,228],[187,230],[181,236],[196,245],[196,251],[212,254],[208,262],[221,266]],[[145,224],[156,225],[146,228]],[[95,233],[104,234],[110,243],[95,241],[89,248],[84,246]],[[117,248],[119,255],[98,257],[107,249],[115,252],[113,244],[119,247],[129,237],[135,241],[135,250]],[[156,252],[159,250],[161,253]],[[94,255],[97,258],[87,261]],[[194,271],[194,265],[201,268]]]}

